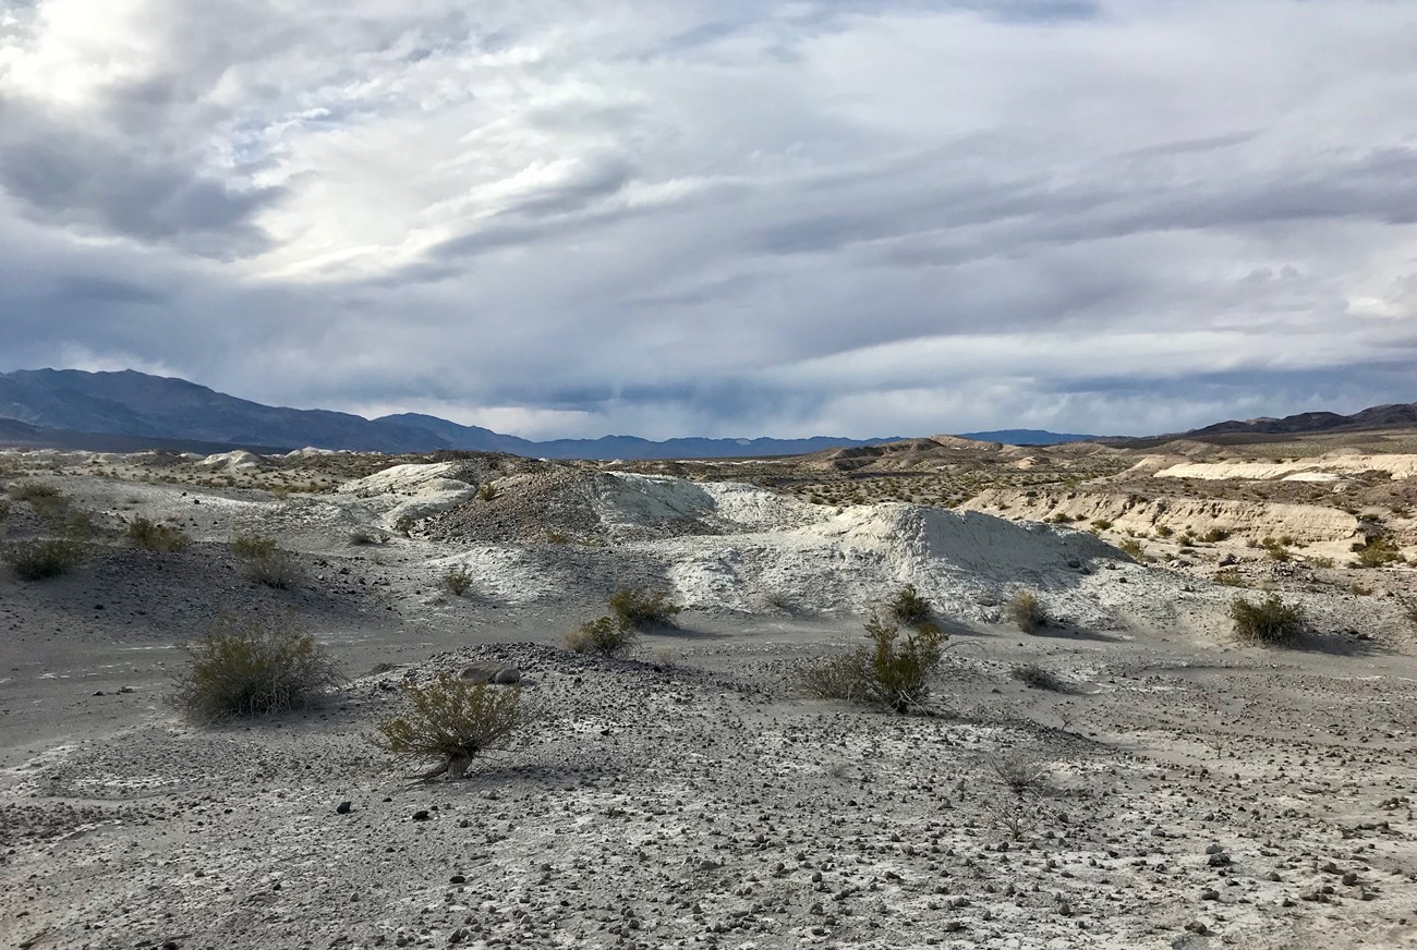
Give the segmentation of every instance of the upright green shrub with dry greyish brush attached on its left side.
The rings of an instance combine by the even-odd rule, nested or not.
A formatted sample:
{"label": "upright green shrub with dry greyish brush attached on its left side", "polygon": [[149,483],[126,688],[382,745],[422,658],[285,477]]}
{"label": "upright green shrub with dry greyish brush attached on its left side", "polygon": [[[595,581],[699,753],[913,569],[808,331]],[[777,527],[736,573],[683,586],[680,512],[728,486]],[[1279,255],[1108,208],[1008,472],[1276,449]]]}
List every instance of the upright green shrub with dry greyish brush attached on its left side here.
{"label": "upright green shrub with dry greyish brush attached on its left side", "polygon": [[925,622],[901,633],[888,613],[866,622],[869,646],[808,667],[799,685],[819,699],[867,702],[896,712],[921,708],[939,665],[945,633]]}

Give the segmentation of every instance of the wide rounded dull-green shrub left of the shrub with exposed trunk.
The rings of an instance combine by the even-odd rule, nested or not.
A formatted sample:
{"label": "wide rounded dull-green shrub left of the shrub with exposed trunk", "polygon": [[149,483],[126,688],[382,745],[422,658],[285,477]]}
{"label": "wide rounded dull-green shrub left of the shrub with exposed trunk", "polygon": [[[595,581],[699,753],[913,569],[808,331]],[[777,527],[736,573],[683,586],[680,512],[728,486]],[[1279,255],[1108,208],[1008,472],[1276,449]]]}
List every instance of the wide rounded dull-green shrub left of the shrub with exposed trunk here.
{"label": "wide rounded dull-green shrub left of the shrub with exposed trunk", "polygon": [[191,663],[171,702],[200,722],[299,709],[340,682],[334,661],[290,617],[265,623],[222,614],[187,654]]}

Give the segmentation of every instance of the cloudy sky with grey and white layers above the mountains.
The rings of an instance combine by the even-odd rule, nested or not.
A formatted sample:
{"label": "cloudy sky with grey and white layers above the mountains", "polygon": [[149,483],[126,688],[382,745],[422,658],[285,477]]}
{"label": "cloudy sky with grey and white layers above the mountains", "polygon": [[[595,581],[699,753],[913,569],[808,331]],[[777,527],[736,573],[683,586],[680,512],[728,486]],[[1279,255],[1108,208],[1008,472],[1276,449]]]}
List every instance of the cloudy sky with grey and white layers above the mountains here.
{"label": "cloudy sky with grey and white layers above the mountains", "polygon": [[1410,0],[0,0],[0,371],[526,437],[1417,399]]}

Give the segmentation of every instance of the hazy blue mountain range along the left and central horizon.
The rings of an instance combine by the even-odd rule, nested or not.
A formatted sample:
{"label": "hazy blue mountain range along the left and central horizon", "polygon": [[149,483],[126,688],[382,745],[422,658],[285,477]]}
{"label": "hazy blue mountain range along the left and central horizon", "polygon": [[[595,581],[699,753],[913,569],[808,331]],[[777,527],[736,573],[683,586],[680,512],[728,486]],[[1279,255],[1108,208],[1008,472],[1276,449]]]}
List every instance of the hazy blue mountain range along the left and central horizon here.
{"label": "hazy blue mountain range along the left and central horizon", "polygon": [[[979,433],[1029,445],[1085,439],[1037,430]],[[306,446],[356,452],[470,450],[546,459],[723,459],[785,456],[891,439],[669,439],[633,436],[533,442],[436,416],[366,419],[347,412],[289,409],[238,399],[186,379],[126,370],[18,370],[0,374],[0,445],[133,452],[232,447],[285,452]]]}

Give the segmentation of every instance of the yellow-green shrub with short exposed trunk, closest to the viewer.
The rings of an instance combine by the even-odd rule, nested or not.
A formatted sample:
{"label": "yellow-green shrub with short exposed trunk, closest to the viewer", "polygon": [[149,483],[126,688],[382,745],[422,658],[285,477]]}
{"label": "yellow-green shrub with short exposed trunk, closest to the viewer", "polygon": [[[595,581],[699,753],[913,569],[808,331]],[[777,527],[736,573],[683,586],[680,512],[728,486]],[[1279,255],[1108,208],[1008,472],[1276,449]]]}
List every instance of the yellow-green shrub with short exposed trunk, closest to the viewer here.
{"label": "yellow-green shrub with short exposed trunk, closest to the viewer", "polygon": [[380,722],[376,745],[402,760],[436,760],[427,779],[442,773],[461,779],[479,753],[506,743],[521,725],[517,687],[445,673],[427,685],[405,682],[402,692],[412,709]]}

